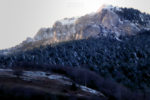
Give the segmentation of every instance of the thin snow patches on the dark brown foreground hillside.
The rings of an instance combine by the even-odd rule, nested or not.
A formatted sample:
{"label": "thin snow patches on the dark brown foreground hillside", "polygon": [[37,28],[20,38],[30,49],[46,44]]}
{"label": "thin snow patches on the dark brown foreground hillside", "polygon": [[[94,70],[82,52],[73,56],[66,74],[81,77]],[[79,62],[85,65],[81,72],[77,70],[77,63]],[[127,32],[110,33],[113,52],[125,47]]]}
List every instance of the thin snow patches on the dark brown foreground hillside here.
{"label": "thin snow patches on the dark brown foreground hillside", "polygon": [[[31,81],[31,80],[39,80],[42,78],[46,78],[49,80],[56,80],[61,82],[65,85],[72,85],[72,80],[66,76],[58,75],[50,72],[43,72],[43,71],[22,71],[20,75],[17,76],[17,74],[14,74],[16,71],[12,69],[0,69],[0,77],[20,77],[22,80],[25,81]],[[18,71],[19,72],[19,71]],[[94,89],[88,88],[83,85],[76,84],[78,88],[80,88],[82,91],[94,94],[97,96],[104,96],[101,92],[96,91]]]}

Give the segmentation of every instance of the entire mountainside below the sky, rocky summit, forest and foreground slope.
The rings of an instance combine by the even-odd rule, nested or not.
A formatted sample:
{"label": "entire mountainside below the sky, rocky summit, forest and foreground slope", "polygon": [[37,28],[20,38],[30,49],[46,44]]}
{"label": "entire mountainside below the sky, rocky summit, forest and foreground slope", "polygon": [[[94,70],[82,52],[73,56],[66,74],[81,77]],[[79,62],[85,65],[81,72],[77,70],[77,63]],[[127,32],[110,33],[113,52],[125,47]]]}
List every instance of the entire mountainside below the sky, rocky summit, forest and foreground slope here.
{"label": "entire mountainside below the sky, rocky summit, forest and foreground slope", "polygon": [[25,100],[40,93],[45,100],[150,100],[149,38],[150,15],[133,8],[104,5],[56,21],[0,51],[0,94]]}

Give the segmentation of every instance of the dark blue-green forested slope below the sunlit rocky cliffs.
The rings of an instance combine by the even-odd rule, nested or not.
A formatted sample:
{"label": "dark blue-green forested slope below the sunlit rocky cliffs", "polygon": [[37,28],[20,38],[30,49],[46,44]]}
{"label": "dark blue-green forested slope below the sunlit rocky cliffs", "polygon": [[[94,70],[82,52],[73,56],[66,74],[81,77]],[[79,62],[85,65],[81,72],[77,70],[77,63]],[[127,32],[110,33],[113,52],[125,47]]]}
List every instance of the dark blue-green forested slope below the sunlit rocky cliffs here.
{"label": "dark blue-green forested slope below the sunlit rocky cliffs", "polygon": [[[150,85],[150,31],[135,36],[90,38],[0,56],[2,68],[35,65],[85,67],[134,89]],[[33,66],[32,66],[33,65]],[[38,68],[38,67],[37,67]],[[43,66],[43,68],[45,68]]]}

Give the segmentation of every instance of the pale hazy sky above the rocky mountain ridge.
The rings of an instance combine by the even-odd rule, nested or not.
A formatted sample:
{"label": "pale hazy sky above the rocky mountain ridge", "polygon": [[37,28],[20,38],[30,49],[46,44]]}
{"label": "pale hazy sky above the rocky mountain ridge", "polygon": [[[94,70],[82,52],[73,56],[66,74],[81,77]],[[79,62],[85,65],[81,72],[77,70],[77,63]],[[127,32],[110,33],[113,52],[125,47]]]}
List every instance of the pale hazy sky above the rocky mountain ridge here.
{"label": "pale hazy sky above the rocky mountain ridge", "polygon": [[149,0],[0,0],[0,49],[33,37],[58,19],[95,12],[103,4],[150,13]]}

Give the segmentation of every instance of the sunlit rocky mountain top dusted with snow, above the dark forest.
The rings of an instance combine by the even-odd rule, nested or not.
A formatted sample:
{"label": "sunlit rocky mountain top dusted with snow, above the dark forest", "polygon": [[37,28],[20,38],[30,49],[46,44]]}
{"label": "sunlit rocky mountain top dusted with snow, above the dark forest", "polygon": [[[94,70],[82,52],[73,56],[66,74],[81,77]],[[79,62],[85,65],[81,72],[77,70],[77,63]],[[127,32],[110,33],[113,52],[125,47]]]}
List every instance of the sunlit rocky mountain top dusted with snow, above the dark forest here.
{"label": "sunlit rocky mountain top dusted with snow, above the dark forest", "polygon": [[109,37],[121,41],[121,36],[136,35],[144,30],[150,30],[150,15],[133,8],[103,5],[95,13],[64,18],[56,21],[51,28],[41,28],[34,38],[27,38],[5,53],[91,37]]}

